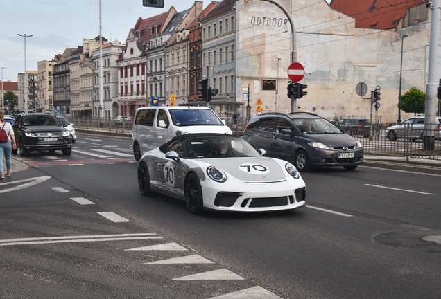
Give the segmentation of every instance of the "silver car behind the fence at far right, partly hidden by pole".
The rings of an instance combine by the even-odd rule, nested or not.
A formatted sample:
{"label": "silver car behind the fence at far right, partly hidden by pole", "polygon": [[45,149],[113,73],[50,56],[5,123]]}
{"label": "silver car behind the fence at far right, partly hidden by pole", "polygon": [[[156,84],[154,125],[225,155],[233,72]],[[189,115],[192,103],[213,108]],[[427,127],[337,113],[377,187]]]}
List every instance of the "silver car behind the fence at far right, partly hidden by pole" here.
{"label": "silver car behind the fence at far right, partly hidden by pole", "polygon": [[[436,127],[431,136],[440,139],[441,136],[441,117],[436,116]],[[390,141],[396,141],[398,138],[409,138],[412,140],[423,139],[424,136],[424,116],[413,116],[407,118],[397,125],[386,128],[386,136]]]}

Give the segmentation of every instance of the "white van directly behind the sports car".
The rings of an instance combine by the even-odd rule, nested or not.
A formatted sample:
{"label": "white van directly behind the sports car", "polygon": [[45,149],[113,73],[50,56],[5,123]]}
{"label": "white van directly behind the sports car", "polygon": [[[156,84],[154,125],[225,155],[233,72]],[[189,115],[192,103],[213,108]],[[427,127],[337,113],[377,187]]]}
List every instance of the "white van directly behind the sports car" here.
{"label": "white van directly behind the sports car", "polygon": [[189,133],[232,134],[231,129],[208,107],[141,107],[135,112],[132,149],[136,161],[144,152],[163,145],[174,136]]}

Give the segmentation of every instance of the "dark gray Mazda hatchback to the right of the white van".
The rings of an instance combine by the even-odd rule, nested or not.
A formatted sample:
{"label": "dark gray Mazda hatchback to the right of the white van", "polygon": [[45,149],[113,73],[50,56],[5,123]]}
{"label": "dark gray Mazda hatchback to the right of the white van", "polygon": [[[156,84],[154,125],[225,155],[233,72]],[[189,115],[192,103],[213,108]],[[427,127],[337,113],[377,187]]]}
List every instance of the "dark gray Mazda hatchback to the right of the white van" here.
{"label": "dark gray Mazda hatchback to the right of the white van", "polygon": [[243,138],[266,156],[293,161],[302,172],[331,166],[354,170],[363,162],[361,143],[316,114],[261,114],[250,120]]}

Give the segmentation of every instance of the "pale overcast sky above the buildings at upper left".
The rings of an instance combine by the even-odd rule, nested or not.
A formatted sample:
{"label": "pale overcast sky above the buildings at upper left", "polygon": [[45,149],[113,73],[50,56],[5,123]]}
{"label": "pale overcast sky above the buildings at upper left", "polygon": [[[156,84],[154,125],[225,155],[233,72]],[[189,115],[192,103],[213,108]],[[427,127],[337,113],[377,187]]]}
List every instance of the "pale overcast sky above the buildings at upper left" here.
{"label": "pale overcast sky above the buildings at upper left", "polygon": [[[204,8],[211,2],[204,0]],[[145,19],[174,6],[178,12],[191,8],[194,1],[164,0],[164,8],[146,8],[142,0],[101,0],[103,37],[124,44],[130,28],[139,17]],[[65,48],[83,46],[83,38],[99,35],[99,0],[1,0],[0,67],[4,81],[17,81],[26,69],[37,71],[37,62],[52,60]],[[1,78],[0,78],[1,80]]]}

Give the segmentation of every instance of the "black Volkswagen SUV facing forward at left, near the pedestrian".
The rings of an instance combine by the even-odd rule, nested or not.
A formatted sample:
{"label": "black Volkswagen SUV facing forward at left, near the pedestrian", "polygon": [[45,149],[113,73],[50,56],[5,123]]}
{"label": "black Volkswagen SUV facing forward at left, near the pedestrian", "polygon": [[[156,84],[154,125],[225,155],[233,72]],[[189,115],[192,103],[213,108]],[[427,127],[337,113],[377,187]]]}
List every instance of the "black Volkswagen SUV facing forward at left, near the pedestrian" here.
{"label": "black Volkswagen SUV facing forward at left, near the pedestrian", "polygon": [[21,156],[28,156],[29,152],[36,150],[62,150],[64,155],[72,152],[71,134],[56,116],[20,114],[12,127]]}

